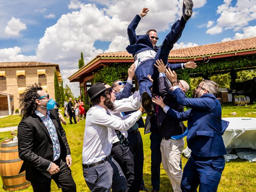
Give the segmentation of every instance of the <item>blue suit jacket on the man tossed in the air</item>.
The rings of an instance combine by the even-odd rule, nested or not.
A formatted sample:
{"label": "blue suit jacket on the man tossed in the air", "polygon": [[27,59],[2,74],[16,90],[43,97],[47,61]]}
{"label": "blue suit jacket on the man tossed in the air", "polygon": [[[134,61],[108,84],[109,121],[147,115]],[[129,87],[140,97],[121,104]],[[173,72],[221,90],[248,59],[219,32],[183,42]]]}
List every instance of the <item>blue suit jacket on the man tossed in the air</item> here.
{"label": "blue suit jacket on the man tossed in the air", "polygon": [[[153,47],[153,45],[150,41],[149,35],[136,35],[135,30],[136,30],[140,20],[141,20],[141,18],[137,14],[127,29],[130,45],[128,45],[126,47],[126,50],[133,56],[135,54],[138,54],[138,53],[146,51],[146,50],[157,51],[159,49],[158,46]],[[178,70],[178,69],[182,68],[181,64],[169,64],[169,63],[168,63],[168,67],[170,67],[171,70]]]}

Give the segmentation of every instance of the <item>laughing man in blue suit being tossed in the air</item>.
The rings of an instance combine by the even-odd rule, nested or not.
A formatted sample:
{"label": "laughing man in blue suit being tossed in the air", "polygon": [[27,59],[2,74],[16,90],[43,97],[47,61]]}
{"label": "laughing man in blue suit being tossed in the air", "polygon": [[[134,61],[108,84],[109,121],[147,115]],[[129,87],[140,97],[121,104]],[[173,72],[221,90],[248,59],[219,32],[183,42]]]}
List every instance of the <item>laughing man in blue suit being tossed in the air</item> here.
{"label": "laughing man in blue suit being tossed in the air", "polygon": [[[158,40],[156,30],[148,30],[145,35],[136,35],[135,29],[138,26],[142,17],[146,16],[149,9],[143,8],[140,14],[137,14],[128,26],[128,37],[130,45],[126,47],[126,50],[134,56],[136,67],[136,78],[139,84],[140,95],[142,98],[142,106],[146,110],[149,116],[154,116],[154,109],[152,107],[151,92],[152,82],[147,75],[151,75],[155,80],[153,84],[153,92],[158,93],[158,70],[154,68],[156,60],[162,59],[164,63],[167,63],[168,55],[173,45],[180,38],[186,22],[192,15],[192,0],[184,0],[182,8],[182,17],[177,20],[171,28],[171,31],[167,34],[162,46],[157,47],[156,42]],[[168,68],[177,70],[181,68],[195,68],[194,62],[187,62],[186,64],[168,64]]]}

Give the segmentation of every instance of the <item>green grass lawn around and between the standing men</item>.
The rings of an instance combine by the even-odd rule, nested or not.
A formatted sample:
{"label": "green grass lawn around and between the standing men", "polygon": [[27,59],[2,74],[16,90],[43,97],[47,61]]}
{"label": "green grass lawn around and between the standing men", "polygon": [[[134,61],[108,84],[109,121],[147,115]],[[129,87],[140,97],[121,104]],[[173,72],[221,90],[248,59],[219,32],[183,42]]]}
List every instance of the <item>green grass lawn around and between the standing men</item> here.
{"label": "green grass lawn around and between the standing men", "polygon": [[[237,116],[244,116],[244,117],[256,117],[256,109],[248,109],[244,106],[241,107],[225,107],[222,110],[223,117],[231,117],[231,112],[236,112]],[[245,115],[246,113],[251,112],[251,115]],[[6,117],[7,118],[7,117]],[[10,121],[13,118],[10,116],[8,117]],[[5,124],[11,124],[6,120]],[[84,137],[84,122],[81,121],[80,124],[68,124],[63,126],[67,138],[68,143],[70,145],[71,153],[72,153],[72,175],[76,182],[77,191],[78,192],[87,192],[89,191],[86,183],[84,181],[83,173],[82,173],[82,144],[83,144],[83,137]],[[17,123],[18,124],[18,123]],[[17,125],[16,124],[16,125]],[[0,119],[0,126],[2,127],[2,119]],[[144,182],[146,184],[146,188],[152,189],[151,187],[151,171],[150,171],[150,134],[144,135],[144,129],[141,128],[140,132],[142,134],[143,139],[143,146],[144,146]],[[3,132],[0,133],[0,141],[3,140],[4,137],[10,136],[10,132]],[[186,147],[186,142],[185,142]],[[182,166],[186,164],[187,159],[182,156]],[[0,180],[0,186],[2,186],[2,180]],[[1,191],[1,189],[0,189]],[[4,191],[4,190],[2,190]],[[22,192],[32,192],[32,187],[28,187]],[[58,190],[56,184],[52,182],[52,191],[61,191]],[[170,180],[166,175],[164,169],[161,166],[161,175],[160,175],[160,191],[161,192],[172,192],[172,187],[170,184]],[[255,172],[255,164],[250,163],[246,160],[231,160],[230,162],[226,162],[226,166],[224,172],[222,174],[222,178],[220,180],[220,184],[218,187],[218,192],[254,192],[256,191],[256,172]]]}

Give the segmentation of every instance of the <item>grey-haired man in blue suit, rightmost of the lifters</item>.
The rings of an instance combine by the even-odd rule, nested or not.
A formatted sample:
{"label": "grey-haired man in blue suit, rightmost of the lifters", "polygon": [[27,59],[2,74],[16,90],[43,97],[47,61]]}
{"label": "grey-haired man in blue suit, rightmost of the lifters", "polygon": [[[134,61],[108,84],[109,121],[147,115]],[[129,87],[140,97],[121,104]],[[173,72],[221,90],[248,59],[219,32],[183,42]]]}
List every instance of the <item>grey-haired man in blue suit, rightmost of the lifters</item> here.
{"label": "grey-haired man in blue suit, rightmost of the lifters", "polygon": [[220,102],[214,95],[218,85],[203,80],[196,88],[195,98],[187,98],[177,86],[177,75],[170,69],[166,76],[172,82],[173,94],[180,105],[191,108],[177,112],[166,106],[162,98],[153,98],[166,114],[176,120],[188,120],[188,148],[192,150],[186,163],[181,181],[182,192],[194,192],[199,185],[200,192],[216,192],[224,170],[226,149],[222,139]]}

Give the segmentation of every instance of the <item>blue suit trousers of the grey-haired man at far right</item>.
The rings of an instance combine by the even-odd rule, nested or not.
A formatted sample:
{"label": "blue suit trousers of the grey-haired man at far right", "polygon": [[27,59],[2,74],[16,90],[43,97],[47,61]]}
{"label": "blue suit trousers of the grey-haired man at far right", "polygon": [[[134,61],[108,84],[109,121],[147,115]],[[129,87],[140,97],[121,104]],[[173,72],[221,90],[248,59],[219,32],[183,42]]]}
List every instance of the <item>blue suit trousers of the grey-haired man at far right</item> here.
{"label": "blue suit trousers of the grey-haired man at far right", "polygon": [[198,157],[191,154],[183,170],[182,192],[195,192],[198,185],[199,192],[216,192],[224,166],[224,156]]}

